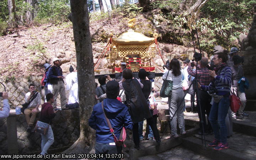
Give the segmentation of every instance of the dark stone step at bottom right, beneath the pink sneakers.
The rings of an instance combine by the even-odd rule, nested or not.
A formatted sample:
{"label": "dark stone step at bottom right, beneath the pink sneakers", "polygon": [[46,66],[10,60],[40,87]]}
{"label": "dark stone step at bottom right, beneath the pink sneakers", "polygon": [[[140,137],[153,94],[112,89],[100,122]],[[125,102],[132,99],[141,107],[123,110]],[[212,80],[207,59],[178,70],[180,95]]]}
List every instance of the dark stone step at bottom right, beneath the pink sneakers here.
{"label": "dark stone step at bottom right, beneath the pink sneakers", "polygon": [[[252,160],[255,159],[256,157],[256,146],[254,141],[252,141],[251,145],[246,145],[245,143],[242,143],[240,140],[244,140],[244,138],[241,138],[240,140],[235,140],[233,138],[232,140],[228,140],[229,142],[229,148],[224,149],[224,150],[214,150],[213,148],[208,146],[208,143],[213,140],[214,136],[209,135],[206,136],[206,144],[207,146],[205,147],[202,145],[202,140],[201,136],[197,135],[198,137],[187,137],[182,139],[182,146],[190,149],[197,154],[204,155],[210,159],[213,160],[219,160],[219,159],[225,159],[225,160],[234,160],[234,159],[239,159],[239,160]],[[233,136],[236,137],[236,136]],[[234,142],[233,142],[234,140]],[[248,142],[249,141],[249,142]],[[231,143],[232,142],[232,143]],[[247,139],[247,143],[250,144],[250,140]],[[251,148],[252,147],[252,148]]]}

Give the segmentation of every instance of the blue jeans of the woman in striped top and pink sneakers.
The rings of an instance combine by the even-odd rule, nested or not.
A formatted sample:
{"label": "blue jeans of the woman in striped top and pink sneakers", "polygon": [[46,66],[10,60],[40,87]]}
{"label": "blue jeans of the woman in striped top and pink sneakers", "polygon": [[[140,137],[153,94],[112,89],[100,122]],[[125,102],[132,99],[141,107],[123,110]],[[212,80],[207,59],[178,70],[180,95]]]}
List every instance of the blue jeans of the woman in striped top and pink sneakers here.
{"label": "blue jeans of the woman in striped top and pink sneakers", "polygon": [[224,144],[227,143],[227,126],[225,124],[225,118],[228,113],[229,105],[229,96],[223,97],[219,103],[213,102],[209,115],[209,121],[212,125],[215,139]]}

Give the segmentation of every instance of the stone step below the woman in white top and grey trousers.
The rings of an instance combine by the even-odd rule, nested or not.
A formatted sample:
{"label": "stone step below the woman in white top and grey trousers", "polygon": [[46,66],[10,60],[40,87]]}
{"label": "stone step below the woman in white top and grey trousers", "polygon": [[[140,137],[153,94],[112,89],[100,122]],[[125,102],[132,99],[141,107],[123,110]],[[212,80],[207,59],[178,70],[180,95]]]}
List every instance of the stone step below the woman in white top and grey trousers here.
{"label": "stone step below the woman in white top and grey trousers", "polygon": [[135,160],[139,157],[154,155],[166,150],[170,150],[171,148],[175,148],[176,146],[181,145],[182,138],[191,136],[195,134],[196,131],[197,128],[186,130],[187,133],[185,135],[180,134],[180,137],[178,138],[170,138],[170,134],[165,134],[161,140],[160,145],[157,145],[155,140],[144,140],[143,142],[140,142],[139,150],[134,149],[133,142],[128,142],[127,146],[129,148],[129,159]]}

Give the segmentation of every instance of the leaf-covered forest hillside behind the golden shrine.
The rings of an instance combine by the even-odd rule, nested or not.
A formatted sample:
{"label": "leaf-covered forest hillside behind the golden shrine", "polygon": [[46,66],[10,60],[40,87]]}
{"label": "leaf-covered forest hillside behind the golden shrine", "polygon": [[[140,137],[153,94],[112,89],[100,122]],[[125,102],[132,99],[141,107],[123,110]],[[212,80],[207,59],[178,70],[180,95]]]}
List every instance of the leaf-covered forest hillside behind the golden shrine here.
{"label": "leaf-covered forest hillside behind the golden shrine", "polygon": [[[62,68],[68,72],[76,66],[76,54],[70,5],[68,0],[15,0],[0,2],[0,74],[5,80],[17,76],[42,75],[43,64],[53,57],[62,58]],[[99,1],[100,2],[100,1]],[[110,1],[111,2],[111,1]],[[116,0],[104,11],[101,4],[87,1],[90,11],[90,32],[94,58],[97,60],[111,34],[118,37],[135,18],[133,30],[153,37],[159,34],[164,59],[193,54],[193,43],[187,19],[197,15],[196,28],[204,55],[212,54],[215,45],[226,49],[240,48],[249,32],[255,14],[254,0]],[[196,44],[196,48],[199,49]],[[162,62],[155,52],[154,64]],[[111,71],[108,59],[102,61],[97,73]],[[157,69],[157,71],[161,71]]]}

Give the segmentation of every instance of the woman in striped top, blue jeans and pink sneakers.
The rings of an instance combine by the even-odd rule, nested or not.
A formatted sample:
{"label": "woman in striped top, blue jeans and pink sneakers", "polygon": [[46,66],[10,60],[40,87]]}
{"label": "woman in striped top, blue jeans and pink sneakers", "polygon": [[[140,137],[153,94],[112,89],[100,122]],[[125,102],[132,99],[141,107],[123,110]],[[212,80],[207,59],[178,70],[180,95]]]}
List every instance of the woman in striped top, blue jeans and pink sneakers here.
{"label": "woman in striped top, blue jeans and pink sneakers", "polygon": [[209,74],[213,78],[212,82],[209,86],[198,83],[199,88],[205,91],[214,90],[216,92],[213,95],[214,102],[209,115],[209,121],[215,137],[213,142],[209,143],[209,146],[214,147],[215,150],[228,148],[225,117],[230,105],[231,69],[226,65],[227,59],[226,51],[215,54],[213,63],[216,68],[214,71],[209,70]]}

